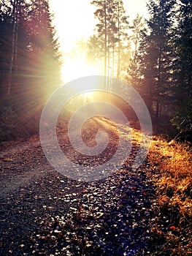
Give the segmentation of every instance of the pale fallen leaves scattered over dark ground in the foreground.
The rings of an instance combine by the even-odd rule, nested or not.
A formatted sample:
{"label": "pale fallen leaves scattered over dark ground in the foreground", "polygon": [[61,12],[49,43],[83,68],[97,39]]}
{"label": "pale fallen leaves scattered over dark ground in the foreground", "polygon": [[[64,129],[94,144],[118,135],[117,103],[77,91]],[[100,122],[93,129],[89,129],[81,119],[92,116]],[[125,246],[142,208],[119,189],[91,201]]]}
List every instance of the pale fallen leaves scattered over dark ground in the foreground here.
{"label": "pale fallen leaves scattered over dark ground in the foreground", "polygon": [[[61,197],[67,212],[51,216],[31,243],[32,255],[136,255],[150,237],[155,197],[145,173],[123,167],[104,181],[77,184]],[[37,236],[38,235],[38,236]]]}

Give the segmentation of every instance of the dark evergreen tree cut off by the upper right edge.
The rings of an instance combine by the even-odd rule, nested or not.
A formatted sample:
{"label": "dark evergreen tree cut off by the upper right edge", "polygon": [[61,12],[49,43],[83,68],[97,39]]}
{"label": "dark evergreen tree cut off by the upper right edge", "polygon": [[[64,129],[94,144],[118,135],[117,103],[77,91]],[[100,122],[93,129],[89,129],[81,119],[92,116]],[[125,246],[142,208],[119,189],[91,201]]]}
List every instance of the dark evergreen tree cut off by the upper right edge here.
{"label": "dark evergreen tree cut off by the upper right edge", "polygon": [[174,29],[174,78],[176,97],[180,102],[192,97],[192,2],[177,2],[177,26]]}

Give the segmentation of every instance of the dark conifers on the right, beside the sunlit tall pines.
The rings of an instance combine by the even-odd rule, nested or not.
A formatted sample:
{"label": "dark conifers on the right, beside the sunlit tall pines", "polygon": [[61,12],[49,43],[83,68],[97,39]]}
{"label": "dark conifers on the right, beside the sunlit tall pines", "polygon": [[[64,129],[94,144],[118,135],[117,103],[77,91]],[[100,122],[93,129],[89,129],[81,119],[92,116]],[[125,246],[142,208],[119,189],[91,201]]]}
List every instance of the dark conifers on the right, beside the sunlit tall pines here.
{"label": "dark conifers on the right, beside the sunlit tall pines", "polygon": [[[134,37],[139,49],[128,67],[127,81],[139,91],[153,120],[172,118],[183,135],[191,132],[192,3],[150,0],[150,18]],[[134,20],[133,27],[139,24]],[[161,119],[162,120],[162,119]]]}

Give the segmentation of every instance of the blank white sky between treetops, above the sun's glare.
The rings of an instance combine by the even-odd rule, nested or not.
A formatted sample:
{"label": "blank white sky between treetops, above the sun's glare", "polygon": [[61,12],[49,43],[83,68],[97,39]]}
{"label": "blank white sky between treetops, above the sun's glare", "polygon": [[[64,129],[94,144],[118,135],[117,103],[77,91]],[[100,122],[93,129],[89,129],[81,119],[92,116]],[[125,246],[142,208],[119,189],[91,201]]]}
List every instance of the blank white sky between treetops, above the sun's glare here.
{"label": "blank white sky between treetops, above the sun's glare", "polygon": [[[124,0],[124,7],[130,22],[139,15],[147,16],[145,0]],[[96,25],[93,12],[96,7],[91,0],[50,0],[50,10],[54,13],[54,26],[58,33],[61,50],[69,52],[78,39],[87,39]]]}

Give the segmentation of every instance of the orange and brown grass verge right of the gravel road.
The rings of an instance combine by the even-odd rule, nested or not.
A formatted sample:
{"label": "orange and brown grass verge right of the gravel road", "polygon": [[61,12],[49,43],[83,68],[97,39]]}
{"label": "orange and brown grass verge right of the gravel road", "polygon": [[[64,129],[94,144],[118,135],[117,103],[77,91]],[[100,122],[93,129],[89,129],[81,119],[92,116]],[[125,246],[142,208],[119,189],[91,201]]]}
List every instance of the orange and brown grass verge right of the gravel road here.
{"label": "orange and brown grass verge right of the gravel road", "polygon": [[[164,244],[154,255],[192,255],[191,148],[186,143],[153,137],[148,157],[158,192],[158,233],[164,236]],[[169,221],[161,230],[164,219]]]}

